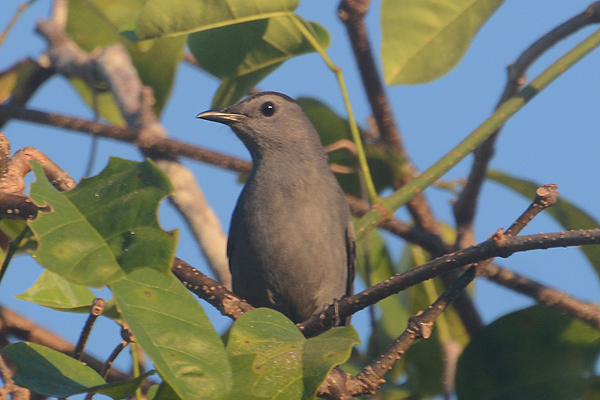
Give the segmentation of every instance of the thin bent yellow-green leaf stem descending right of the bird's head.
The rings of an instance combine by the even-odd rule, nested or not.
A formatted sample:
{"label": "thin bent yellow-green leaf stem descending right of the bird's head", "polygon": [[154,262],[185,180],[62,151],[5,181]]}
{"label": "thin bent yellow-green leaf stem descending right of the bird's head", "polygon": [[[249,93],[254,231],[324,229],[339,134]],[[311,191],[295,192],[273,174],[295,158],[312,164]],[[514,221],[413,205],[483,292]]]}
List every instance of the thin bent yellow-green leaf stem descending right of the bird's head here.
{"label": "thin bent yellow-green leaf stem descending right of the bird's head", "polygon": [[298,16],[292,12],[289,14],[290,19],[296,25],[298,30],[302,32],[306,40],[313,46],[313,48],[321,55],[325,64],[331,69],[338,80],[340,85],[340,90],[342,92],[342,97],[344,98],[344,105],[346,107],[346,112],[348,113],[348,124],[350,125],[350,133],[352,134],[352,139],[356,144],[356,151],[358,154],[358,162],[360,164],[360,168],[362,170],[365,185],[367,187],[367,192],[369,194],[369,199],[372,203],[375,203],[379,200],[379,196],[377,195],[377,190],[375,190],[375,184],[373,183],[373,178],[371,177],[371,171],[369,170],[369,164],[367,163],[367,156],[365,155],[365,149],[362,144],[362,140],[360,137],[360,132],[358,131],[358,126],[356,125],[356,120],[354,119],[354,112],[352,111],[352,105],[350,104],[350,97],[348,96],[348,90],[346,88],[346,82],[344,81],[344,75],[342,74],[342,69],[335,65],[333,61],[329,58],[325,49],[321,47],[319,41],[314,37],[314,35],[308,30],[308,28],[300,21]]}

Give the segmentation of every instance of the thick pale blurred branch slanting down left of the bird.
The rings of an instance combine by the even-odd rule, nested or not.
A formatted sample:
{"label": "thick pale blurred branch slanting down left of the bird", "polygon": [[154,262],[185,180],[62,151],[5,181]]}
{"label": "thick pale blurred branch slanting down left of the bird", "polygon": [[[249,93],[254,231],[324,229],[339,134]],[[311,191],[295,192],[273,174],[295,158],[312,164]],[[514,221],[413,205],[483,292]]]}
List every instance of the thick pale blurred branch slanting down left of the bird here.
{"label": "thick pale blurred branch slanting down left of the bird", "polygon": [[[88,55],[53,20],[38,22],[37,31],[48,42],[46,55],[52,69],[66,77],[106,84],[129,128],[136,131],[136,143],[166,138],[167,132],[152,109],[152,90],[142,84],[123,45],[110,45]],[[194,175],[172,156],[139,148],[169,176],[175,187],[175,194],[169,199],[186,220],[209,267],[224,285],[231,286],[225,254],[227,239]]]}

